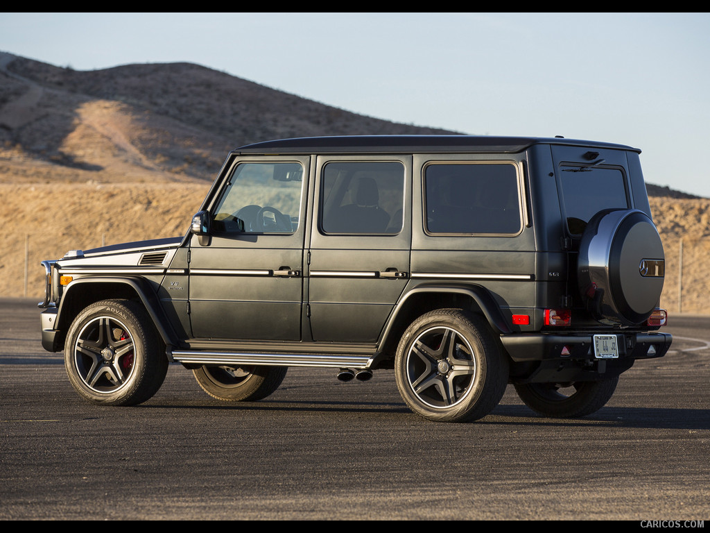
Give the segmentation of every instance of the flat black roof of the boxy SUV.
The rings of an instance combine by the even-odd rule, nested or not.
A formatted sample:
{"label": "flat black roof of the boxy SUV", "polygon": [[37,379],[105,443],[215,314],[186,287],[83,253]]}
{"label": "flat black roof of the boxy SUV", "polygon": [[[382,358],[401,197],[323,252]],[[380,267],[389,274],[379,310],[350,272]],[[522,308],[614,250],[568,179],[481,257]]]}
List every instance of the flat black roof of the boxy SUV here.
{"label": "flat black roof of the boxy SUV", "polygon": [[621,150],[639,149],[623,144],[564,139],[563,137],[506,137],[474,135],[342,135],[296,137],[247,144],[235,149],[236,154],[312,154],[338,152],[417,153],[417,152],[496,152],[515,154],[534,144],[591,146]]}

